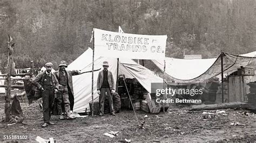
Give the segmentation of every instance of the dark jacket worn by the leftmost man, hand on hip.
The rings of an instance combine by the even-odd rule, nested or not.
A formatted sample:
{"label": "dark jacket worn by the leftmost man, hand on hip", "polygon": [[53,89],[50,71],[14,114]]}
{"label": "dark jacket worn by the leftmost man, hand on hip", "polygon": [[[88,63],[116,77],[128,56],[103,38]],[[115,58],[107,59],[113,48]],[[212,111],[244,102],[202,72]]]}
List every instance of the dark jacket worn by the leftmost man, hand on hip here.
{"label": "dark jacket worn by the leftmost man, hand on hip", "polygon": [[[35,85],[37,87],[37,89],[41,90],[42,89],[42,79],[43,79],[43,76],[46,75],[45,73],[46,71],[44,71],[43,73],[40,73],[38,74],[35,79],[32,80],[32,84]],[[46,75],[47,76],[47,75]],[[54,74],[51,73],[51,79],[52,79],[52,82],[53,82],[53,86],[55,87],[55,89],[59,89],[59,82],[56,78],[56,76]]]}

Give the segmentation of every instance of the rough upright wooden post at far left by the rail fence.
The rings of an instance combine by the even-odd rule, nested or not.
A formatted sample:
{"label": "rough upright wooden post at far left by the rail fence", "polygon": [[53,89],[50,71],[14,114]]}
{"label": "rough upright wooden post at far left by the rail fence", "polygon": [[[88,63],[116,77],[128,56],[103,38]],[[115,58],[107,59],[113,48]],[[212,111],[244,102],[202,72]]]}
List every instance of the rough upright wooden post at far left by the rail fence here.
{"label": "rough upright wooden post at far left by the rail fence", "polygon": [[11,95],[11,67],[12,67],[12,53],[14,52],[14,45],[12,45],[12,38],[9,35],[9,41],[8,43],[8,59],[7,59],[7,76],[6,76],[6,95],[5,95],[5,106],[4,106],[4,112],[5,112],[5,121],[8,122],[10,120],[10,95]]}

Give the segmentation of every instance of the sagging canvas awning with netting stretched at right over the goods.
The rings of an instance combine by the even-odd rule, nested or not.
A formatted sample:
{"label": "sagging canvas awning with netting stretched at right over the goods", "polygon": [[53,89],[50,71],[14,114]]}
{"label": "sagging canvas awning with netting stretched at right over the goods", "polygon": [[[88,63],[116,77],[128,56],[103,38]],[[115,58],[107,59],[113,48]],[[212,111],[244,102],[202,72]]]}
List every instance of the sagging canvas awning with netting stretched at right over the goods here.
{"label": "sagging canvas awning with netting stretched at right over the goods", "polygon": [[[256,52],[234,55],[223,52],[224,74],[236,71],[240,66],[256,68]],[[163,71],[164,61],[152,60]],[[172,81],[168,82],[203,82],[212,77],[220,79],[221,54],[216,59],[174,59],[166,58],[166,75]]]}

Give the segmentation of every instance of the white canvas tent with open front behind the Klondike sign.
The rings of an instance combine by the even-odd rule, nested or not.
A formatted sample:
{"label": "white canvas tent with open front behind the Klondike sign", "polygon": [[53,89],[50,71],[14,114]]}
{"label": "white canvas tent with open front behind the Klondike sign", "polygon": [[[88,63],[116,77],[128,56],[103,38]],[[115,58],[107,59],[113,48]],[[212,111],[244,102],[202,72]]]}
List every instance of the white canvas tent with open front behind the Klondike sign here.
{"label": "white canvas tent with open front behind the Klondike sign", "polygon": [[[102,68],[103,61],[109,62],[109,70],[112,72],[114,81],[117,80],[117,59],[106,58],[102,56],[95,56],[94,69]],[[92,69],[92,49],[87,49],[82,55],[80,55],[75,61],[70,63],[68,70],[82,70],[89,71]],[[99,70],[100,71],[100,70]],[[93,74],[93,97],[94,101],[99,101],[99,95],[97,94],[97,77],[99,71],[95,71]],[[140,84],[148,91],[151,92],[151,83],[161,83],[163,79],[155,75],[151,70],[138,65],[131,59],[119,59],[119,74],[124,74],[126,78],[137,78]],[[73,76],[73,87],[75,96],[75,112],[85,112],[85,109],[90,109],[89,103],[92,102],[91,97],[91,84],[92,73],[85,73],[81,75]]]}

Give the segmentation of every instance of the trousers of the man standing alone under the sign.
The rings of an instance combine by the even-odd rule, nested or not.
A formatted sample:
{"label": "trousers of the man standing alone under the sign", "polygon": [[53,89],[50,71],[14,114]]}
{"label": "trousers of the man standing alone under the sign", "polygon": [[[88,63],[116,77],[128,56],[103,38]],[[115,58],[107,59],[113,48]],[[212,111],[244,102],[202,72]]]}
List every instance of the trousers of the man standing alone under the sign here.
{"label": "trousers of the man standing alone under the sign", "polygon": [[100,113],[104,114],[104,103],[105,103],[106,96],[107,96],[107,99],[109,99],[110,113],[113,113],[114,112],[113,99],[112,99],[110,88],[100,88]]}

